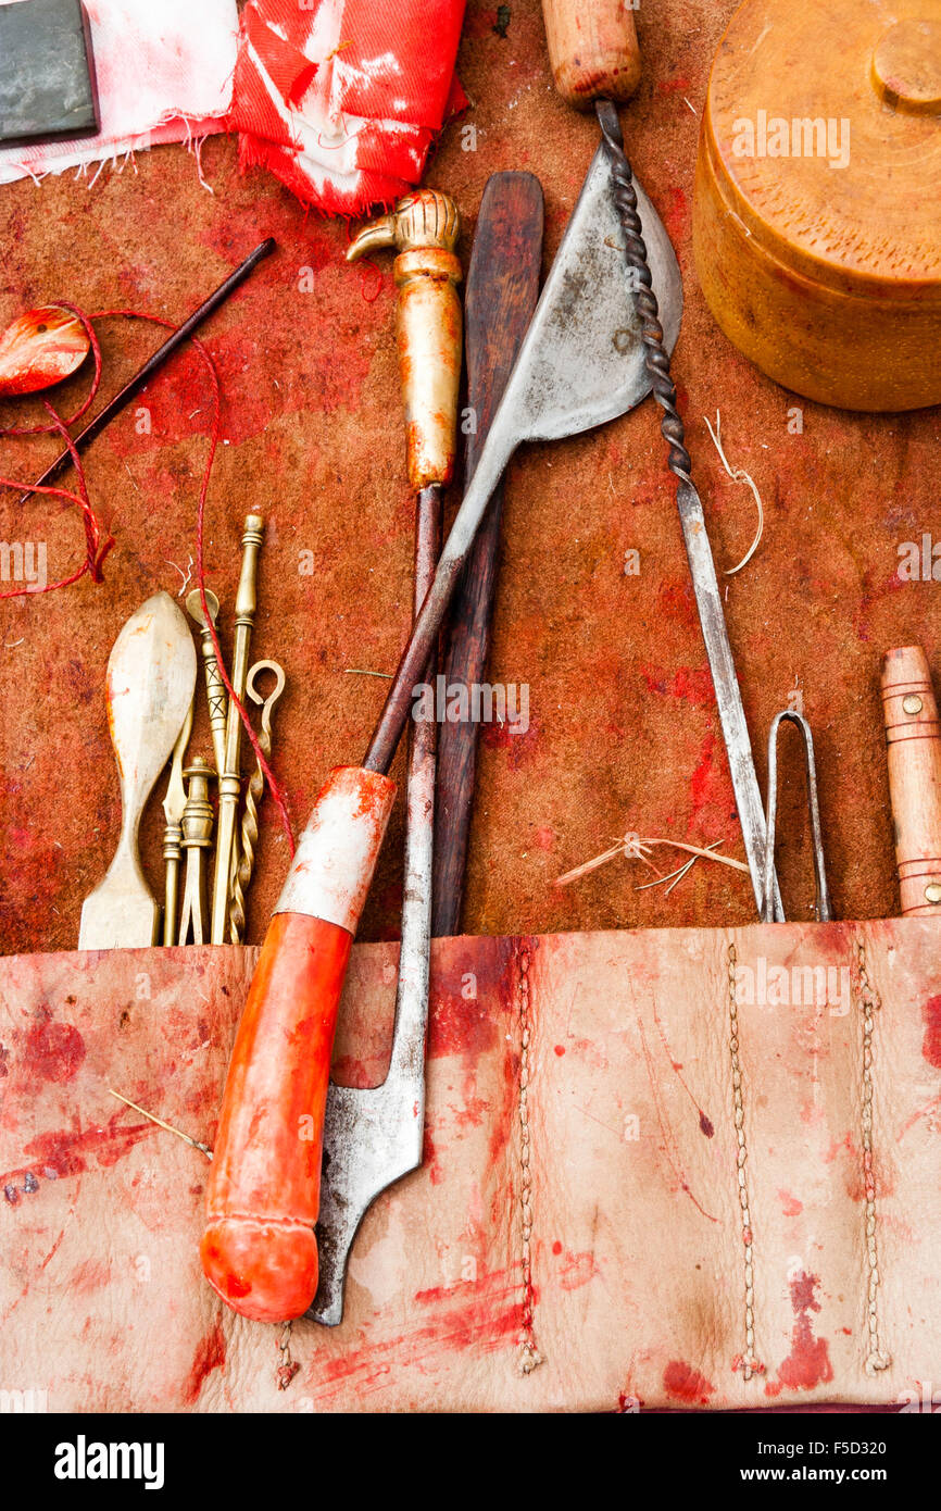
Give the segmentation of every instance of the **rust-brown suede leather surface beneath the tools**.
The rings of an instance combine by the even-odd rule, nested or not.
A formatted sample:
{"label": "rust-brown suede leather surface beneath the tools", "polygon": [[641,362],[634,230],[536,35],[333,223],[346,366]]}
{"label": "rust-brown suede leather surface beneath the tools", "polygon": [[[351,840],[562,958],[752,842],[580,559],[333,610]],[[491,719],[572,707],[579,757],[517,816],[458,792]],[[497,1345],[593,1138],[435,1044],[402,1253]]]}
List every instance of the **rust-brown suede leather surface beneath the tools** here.
{"label": "rust-brown suede leather surface beneath the tools", "polygon": [[[554,95],[538,0],[497,11],[471,0],[459,70],[471,97],[429,181],[464,212],[467,261],[488,175],[527,168],[547,204],[547,258],[575,201],[598,133]],[[761,547],[728,579],[727,615],[757,765],[772,715],[794,686],[817,740],[835,911],[879,917],[896,907],[881,653],[923,641],[938,660],[935,582],[900,583],[897,548],[941,532],[938,416],[852,416],[773,387],[725,341],[690,260],[698,113],[731,0],[653,0],[637,12],[645,74],[624,110],[636,171],[659,207],[684,272],[686,314],[675,375],[695,474],[717,562],[754,535],[748,490],[731,485],[702,416],[722,411],[730,458],[749,468],[766,508]],[[328,768],[361,756],[384,683],[347,668],[391,671],[411,615],[412,500],[399,423],[388,260],[347,267],[347,228],[304,215],[281,186],[240,177],[233,141],[202,150],[213,193],[183,148],[142,154],[94,187],[71,175],[0,195],[0,322],[38,301],[88,310],[134,307],[181,319],[261,239],[279,243],[205,331],[225,385],[225,435],[210,496],[210,583],[231,606],[245,514],[267,515],[255,647],[288,674],[275,760],[296,823]],[[301,284],[313,270],[313,292]],[[150,329],[101,328],[106,391],[151,349]],[[74,390],[74,384],[69,385]],[[788,434],[799,406],[804,431]],[[177,592],[193,553],[205,455],[207,385],[181,355],[95,444],[88,473],[110,512],[116,550],[106,582],[0,603],[0,949],[73,947],[83,896],[113,852],[119,804],[103,688],[110,645],[157,586]],[[3,406],[0,422],[23,411]],[[32,413],[32,411],[30,411]],[[5,443],[2,473],[35,476],[51,443]],[[0,538],[45,539],[50,574],[79,559],[74,512],[6,494]],[[752,919],[746,879],[698,866],[669,898],[618,861],[565,891],[554,878],[625,830],[698,843],[725,837],[740,854],[716,707],[696,621],[665,450],[653,405],[512,465],[491,675],[530,686],[530,730],[485,731],[471,842],[470,932],[577,931],[636,925],[727,925]],[[639,577],[624,553],[639,548]],[[314,576],[301,576],[313,552]],[[231,612],[231,610],[230,610]],[[790,736],[788,736],[790,740]],[[201,712],[193,751],[208,752]],[[794,749],[791,746],[791,749]],[[787,762],[785,762],[787,766]],[[781,872],[790,911],[813,899],[791,765]],[[249,907],[249,937],[285,870],[270,807]],[[160,813],[145,825],[147,867],[160,875]],[[363,937],[391,938],[400,907],[402,801]]]}

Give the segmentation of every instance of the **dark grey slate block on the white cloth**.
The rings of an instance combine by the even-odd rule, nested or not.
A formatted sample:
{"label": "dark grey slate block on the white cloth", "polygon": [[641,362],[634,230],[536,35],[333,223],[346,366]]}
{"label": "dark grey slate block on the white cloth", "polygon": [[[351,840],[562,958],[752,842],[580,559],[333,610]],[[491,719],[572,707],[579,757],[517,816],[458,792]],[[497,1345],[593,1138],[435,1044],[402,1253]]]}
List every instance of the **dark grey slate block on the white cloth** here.
{"label": "dark grey slate block on the white cloth", "polygon": [[98,130],[92,42],[80,0],[0,5],[0,142],[50,142]]}

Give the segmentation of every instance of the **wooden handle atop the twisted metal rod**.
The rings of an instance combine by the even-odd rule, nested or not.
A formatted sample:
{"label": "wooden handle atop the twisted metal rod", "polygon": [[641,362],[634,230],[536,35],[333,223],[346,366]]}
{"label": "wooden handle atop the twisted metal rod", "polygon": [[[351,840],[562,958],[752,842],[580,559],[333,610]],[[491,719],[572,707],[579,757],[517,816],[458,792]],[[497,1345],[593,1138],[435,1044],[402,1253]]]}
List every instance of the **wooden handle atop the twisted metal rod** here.
{"label": "wooden handle atop the twisted metal rod", "polygon": [[640,48],[630,0],[542,0],[556,89],[577,110],[595,100],[630,100]]}

